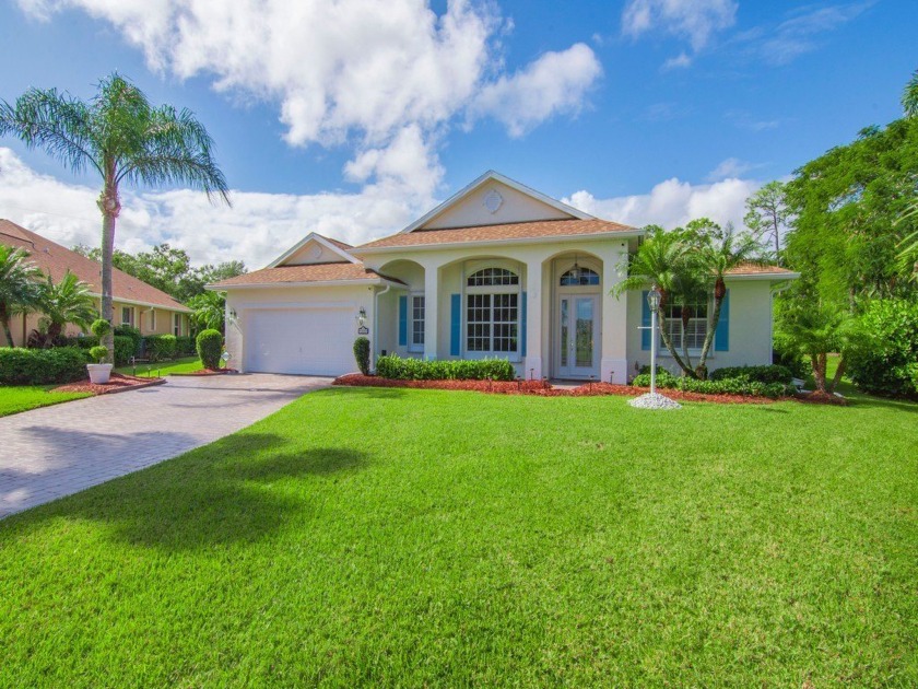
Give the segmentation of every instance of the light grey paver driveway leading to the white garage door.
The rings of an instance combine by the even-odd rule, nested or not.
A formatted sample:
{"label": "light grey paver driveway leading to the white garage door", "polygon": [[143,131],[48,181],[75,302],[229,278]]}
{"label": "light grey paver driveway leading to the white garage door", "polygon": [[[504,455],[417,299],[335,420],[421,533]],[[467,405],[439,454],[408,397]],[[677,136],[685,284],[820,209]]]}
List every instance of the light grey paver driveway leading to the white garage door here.
{"label": "light grey paver driveway leading to the white garage door", "polygon": [[267,373],[170,376],[0,418],[0,517],[213,442],[330,384]]}

